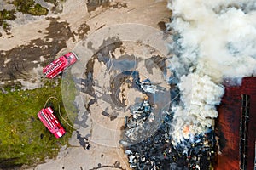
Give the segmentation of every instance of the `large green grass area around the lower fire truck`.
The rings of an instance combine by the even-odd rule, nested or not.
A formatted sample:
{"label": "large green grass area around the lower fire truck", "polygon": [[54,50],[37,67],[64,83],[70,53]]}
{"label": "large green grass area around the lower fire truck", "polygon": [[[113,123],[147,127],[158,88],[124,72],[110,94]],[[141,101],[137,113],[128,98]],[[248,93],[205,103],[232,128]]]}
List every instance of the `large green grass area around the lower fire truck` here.
{"label": "large green grass area around the lower fire truck", "polygon": [[[58,114],[60,104],[61,114],[67,119],[61,101],[61,83],[48,82],[44,88],[34,90],[6,90],[9,91],[7,94],[0,94],[0,168],[32,165],[44,161],[46,157],[55,157],[61,145],[68,144],[73,132]],[[53,107],[55,116],[59,117],[67,131],[61,139],[55,139],[37,116],[49,96],[60,99],[49,100],[47,106]]]}

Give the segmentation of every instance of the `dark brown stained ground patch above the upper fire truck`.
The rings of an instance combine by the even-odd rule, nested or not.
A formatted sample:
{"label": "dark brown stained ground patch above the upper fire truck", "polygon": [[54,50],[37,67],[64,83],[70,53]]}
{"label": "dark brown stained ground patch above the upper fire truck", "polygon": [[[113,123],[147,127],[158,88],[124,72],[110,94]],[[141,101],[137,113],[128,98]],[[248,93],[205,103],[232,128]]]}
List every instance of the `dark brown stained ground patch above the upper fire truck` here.
{"label": "dark brown stained ground patch above the upper fire truck", "polygon": [[[48,31],[44,39],[32,40],[27,45],[13,48],[9,51],[0,51],[0,76],[1,80],[9,81],[17,78],[32,79],[30,71],[39,65],[45,66],[55,59],[56,54],[66,48],[66,41],[73,37],[68,23],[50,20]],[[44,61],[41,61],[43,57]]]}

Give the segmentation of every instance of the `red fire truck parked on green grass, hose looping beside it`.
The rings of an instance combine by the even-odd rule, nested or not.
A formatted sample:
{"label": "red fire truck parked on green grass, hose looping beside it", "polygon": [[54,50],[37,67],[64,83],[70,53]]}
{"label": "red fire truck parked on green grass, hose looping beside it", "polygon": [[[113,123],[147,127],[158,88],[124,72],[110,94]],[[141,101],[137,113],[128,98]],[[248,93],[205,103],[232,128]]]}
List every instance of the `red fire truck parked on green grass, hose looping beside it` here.
{"label": "red fire truck parked on green grass, hose looping beside it", "polygon": [[47,107],[38,112],[38,118],[44,123],[44,126],[48,128],[49,132],[53,133],[58,139],[65,134],[65,130],[54,116],[53,112],[50,107]]}

